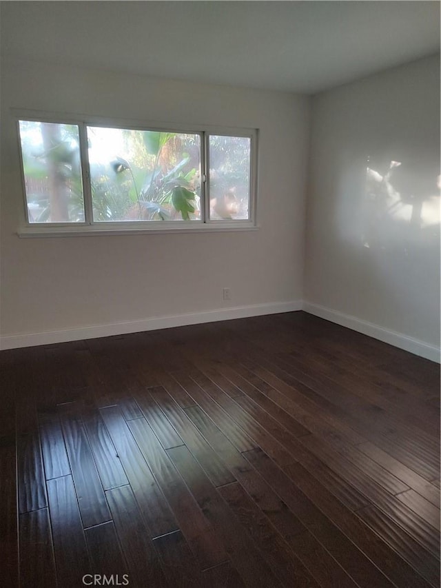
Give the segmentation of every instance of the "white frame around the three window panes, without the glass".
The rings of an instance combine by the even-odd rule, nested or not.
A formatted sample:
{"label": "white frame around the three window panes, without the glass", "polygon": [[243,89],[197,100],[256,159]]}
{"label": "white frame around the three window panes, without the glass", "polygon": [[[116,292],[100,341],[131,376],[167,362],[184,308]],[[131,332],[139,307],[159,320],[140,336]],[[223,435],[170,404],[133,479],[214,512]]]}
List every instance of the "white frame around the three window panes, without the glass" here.
{"label": "white frame around the three window panes, without the glass", "polygon": [[[12,110],[17,132],[17,147],[21,174],[23,208],[17,234],[21,237],[34,236],[74,236],[74,235],[111,235],[111,234],[145,234],[145,233],[188,233],[219,232],[258,229],[256,212],[258,196],[258,129],[234,128],[214,125],[183,125],[181,123],[147,122],[139,119],[110,118],[85,114],[65,114],[33,110]],[[79,129],[79,152],[81,161],[81,179],[85,219],[83,223],[30,223],[28,201],[25,190],[23,155],[19,121],[38,121],[76,125]],[[178,132],[198,134],[201,137],[201,219],[193,221],[93,221],[92,193],[88,159],[87,127],[121,128],[128,130]],[[234,136],[250,139],[250,173],[249,173],[249,219],[216,220],[209,214],[209,137]]]}

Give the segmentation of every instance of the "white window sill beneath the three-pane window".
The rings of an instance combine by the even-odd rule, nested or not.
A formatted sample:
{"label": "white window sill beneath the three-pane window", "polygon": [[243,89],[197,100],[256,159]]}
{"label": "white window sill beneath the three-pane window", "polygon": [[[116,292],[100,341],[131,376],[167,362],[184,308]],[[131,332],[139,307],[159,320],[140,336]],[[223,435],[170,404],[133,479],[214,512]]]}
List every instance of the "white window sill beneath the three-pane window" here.
{"label": "white window sill beneath the three-pane window", "polygon": [[96,227],[88,225],[75,226],[47,226],[44,227],[21,227],[17,231],[20,239],[35,239],[48,237],[74,237],[74,236],[110,236],[110,235],[144,235],[144,234],[178,234],[178,233],[213,233],[213,232],[237,232],[237,231],[256,231],[259,229],[258,225],[252,223],[240,224],[215,224],[215,223],[201,223],[199,225],[178,227]]}

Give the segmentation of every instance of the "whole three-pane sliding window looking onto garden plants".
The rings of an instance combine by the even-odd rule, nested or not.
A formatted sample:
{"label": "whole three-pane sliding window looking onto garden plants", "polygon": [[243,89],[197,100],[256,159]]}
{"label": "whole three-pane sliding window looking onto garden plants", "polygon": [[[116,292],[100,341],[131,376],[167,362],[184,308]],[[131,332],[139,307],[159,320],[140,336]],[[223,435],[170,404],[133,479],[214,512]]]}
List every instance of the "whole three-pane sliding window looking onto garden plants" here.
{"label": "whole three-pane sliding window looking onto garden plants", "polygon": [[256,132],[19,116],[23,234],[255,226]]}

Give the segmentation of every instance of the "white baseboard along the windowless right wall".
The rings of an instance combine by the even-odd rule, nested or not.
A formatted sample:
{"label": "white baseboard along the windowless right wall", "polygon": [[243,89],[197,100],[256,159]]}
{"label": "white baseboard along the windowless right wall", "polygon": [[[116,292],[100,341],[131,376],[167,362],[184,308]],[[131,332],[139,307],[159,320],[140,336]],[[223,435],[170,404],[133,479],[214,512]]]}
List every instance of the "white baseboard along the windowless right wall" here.
{"label": "white baseboard along the windowless right wall", "polygon": [[312,304],[305,301],[302,310],[309,312],[309,314],[320,316],[320,318],[325,318],[327,321],[331,321],[331,323],[336,323],[342,327],[348,327],[353,331],[369,335],[379,341],[394,345],[394,347],[399,347],[400,349],[404,349],[405,351],[409,351],[420,357],[440,363],[440,348],[435,347],[435,345],[429,345],[429,343],[424,343],[424,341],[419,341],[408,335],[385,329],[379,325],[368,323],[368,321],[362,321],[356,316],[343,314],[342,312],[338,312],[338,310],[332,310],[331,308],[320,306],[318,304]]}

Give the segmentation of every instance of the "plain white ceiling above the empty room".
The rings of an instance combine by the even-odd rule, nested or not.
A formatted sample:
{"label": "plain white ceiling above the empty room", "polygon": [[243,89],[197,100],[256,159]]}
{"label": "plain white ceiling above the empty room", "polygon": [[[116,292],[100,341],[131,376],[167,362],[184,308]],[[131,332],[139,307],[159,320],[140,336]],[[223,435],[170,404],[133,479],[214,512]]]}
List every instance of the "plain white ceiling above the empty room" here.
{"label": "plain white ceiling above the empty room", "polygon": [[438,1],[1,2],[2,57],[314,93],[440,51]]}

